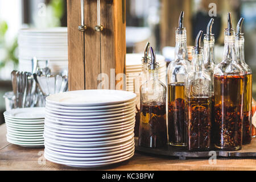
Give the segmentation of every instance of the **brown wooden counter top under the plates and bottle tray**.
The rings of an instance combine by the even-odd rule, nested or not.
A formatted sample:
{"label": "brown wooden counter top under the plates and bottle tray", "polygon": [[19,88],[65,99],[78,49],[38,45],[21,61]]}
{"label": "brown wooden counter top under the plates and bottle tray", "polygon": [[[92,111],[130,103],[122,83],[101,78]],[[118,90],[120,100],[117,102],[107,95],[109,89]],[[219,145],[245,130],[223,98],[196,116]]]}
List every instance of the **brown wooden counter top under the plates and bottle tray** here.
{"label": "brown wooden counter top under the plates and bottle tray", "polygon": [[[43,158],[43,148],[24,148],[6,141],[6,126],[0,126],[0,170],[86,170],[55,164]],[[220,158],[216,164],[209,164],[208,159],[179,160],[164,156],[152,156],[135,152],[126,162],[102,170],[256,170],[256,158]],[[87,169],[88,170],[88,169]]]}

